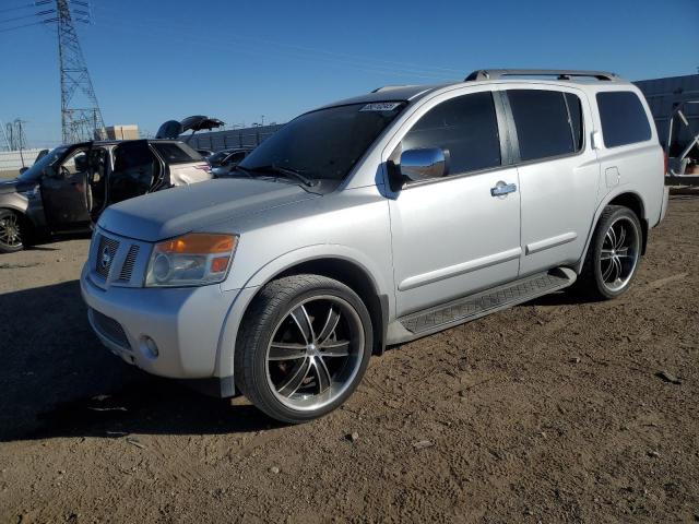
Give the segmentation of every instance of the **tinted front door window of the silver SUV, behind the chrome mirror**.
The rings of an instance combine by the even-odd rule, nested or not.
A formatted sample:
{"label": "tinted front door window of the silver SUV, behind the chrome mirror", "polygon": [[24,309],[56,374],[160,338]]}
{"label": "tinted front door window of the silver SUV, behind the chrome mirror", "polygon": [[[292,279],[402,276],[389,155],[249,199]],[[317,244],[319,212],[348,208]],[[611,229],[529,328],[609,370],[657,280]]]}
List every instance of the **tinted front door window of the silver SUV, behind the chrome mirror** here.
{"label": "tinted front door window of the silver SUV, behind the chrome mirror", "polygon": [[474,93],[441,103],[417,121],[401,147],[447,150],[449,175],[499,166],[500,139],[493,95]]}

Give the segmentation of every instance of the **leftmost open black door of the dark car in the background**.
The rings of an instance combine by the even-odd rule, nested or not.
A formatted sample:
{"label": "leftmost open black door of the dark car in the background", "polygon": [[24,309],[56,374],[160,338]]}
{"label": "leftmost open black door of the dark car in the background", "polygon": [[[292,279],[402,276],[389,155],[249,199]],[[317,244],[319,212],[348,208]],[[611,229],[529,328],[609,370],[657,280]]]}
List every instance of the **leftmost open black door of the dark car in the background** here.
{"label": "leftmost open black door of the dark car in the background", "polygon": [[56,233],[90,227],[90,150],[75,150],[46,169],[40,190],[48,227]]}

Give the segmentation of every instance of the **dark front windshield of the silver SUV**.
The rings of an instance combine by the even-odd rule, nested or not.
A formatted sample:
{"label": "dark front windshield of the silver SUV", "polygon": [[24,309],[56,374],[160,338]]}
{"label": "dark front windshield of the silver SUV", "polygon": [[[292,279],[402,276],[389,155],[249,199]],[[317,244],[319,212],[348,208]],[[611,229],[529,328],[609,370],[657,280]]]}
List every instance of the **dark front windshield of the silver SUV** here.
{"label": "dark front windshield of the silver SUV", "polygon": [[405,107],[402,102],[351,104],[307,112],[262,142],[239,166],[271,166],[342,180]]}

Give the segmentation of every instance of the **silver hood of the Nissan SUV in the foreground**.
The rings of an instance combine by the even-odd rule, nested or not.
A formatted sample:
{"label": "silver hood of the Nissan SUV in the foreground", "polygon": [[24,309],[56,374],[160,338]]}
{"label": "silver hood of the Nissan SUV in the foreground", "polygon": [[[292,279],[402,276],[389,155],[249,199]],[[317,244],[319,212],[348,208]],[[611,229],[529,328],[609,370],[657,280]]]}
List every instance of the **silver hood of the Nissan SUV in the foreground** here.
{"label": "silver hood of the Nissan SUV in the foreground", "polygon": [[103,213],[98,224],[116,235],[153,242],[317,198],[317,194],[292,183],[250,179],[211,180],[111,205]]}

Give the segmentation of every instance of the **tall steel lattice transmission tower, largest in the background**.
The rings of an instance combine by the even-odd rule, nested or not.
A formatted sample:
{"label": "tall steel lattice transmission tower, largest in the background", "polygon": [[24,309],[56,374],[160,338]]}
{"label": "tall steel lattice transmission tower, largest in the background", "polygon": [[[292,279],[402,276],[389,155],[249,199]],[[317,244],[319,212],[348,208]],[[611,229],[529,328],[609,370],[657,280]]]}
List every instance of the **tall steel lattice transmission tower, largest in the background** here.
{"label": "tall steel lattice transmission tower, largest in the background", "polygon": [[[74,25],[74,22],[90,22],[88,5],[80,0],[38,0],[35,5],[46,5],[54,1],[55,16],[45,22],[56,22],[58,27],[63,143],[94,140],[100,136],[105,123]],[[49,13],[54,14],[52,10],[37,14]]]}

